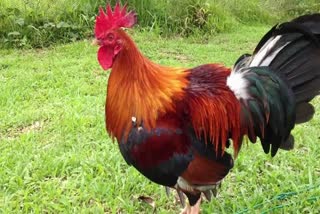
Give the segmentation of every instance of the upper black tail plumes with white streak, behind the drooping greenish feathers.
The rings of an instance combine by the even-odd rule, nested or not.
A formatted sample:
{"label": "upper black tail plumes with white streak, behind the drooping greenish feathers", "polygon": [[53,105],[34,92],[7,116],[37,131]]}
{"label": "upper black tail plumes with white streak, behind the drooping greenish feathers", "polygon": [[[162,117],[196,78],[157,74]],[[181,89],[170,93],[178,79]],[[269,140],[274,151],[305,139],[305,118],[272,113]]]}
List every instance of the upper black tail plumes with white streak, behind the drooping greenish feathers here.
{"label": "upper black tail plumes with white streak, behind the drooping greenish feathers", "polygon": [[314,114],[310,102],[320,94],[320,14],[274,26],[259,42],[248,66],[268,66],[291,88],[296,123]]}

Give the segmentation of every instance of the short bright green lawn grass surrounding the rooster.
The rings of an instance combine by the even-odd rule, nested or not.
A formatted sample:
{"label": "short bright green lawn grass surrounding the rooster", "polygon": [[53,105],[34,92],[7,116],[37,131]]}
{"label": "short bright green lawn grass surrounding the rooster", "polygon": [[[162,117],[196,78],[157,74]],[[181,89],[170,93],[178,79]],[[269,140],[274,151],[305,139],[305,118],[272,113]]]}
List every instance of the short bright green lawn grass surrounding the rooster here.
{"label": "short bright green lawn grass surrounding the rooster", "polygon": [[[201,39],[131,31],[142,51],[167,65],[232,65],[268,28]],[[174,196],[128,167],[104,128],[108,72],[90,41],[0,50],[0,212],[177,213]],[[296,148],[265,155],[244,146],[217,199],[203,213],[319,213],[320,99],[315,118],[294,130]],[[285,193],[296,193],[287,194]],[[281,197],[282,196],[282,197]]]}

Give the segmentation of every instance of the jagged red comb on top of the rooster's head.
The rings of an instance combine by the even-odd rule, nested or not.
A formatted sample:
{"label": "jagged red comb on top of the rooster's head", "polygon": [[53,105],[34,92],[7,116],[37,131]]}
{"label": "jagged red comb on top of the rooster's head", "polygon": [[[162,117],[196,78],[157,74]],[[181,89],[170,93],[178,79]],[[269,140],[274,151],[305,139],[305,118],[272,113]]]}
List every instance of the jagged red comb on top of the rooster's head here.
{"label": "jagged red comb on top of the rooster's head", "polygon": [[103,8],[99,8],[99,15],[96,17],[94,33],[97,38],[102,36],[106,31],[117,29],[120,27],[131,28],[137,23],[137,15],[135,12],[127,12],[127,4],[121,7],[117,2],[114,11],[110,4],[106,7],[106,12]]}

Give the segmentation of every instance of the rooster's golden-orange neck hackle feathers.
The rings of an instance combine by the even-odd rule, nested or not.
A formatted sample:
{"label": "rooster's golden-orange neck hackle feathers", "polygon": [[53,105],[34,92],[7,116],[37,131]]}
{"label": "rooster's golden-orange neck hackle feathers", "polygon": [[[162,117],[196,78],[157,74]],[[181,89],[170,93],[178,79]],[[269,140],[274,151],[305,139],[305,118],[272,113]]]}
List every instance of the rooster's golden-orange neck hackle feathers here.
{"label": "rooster's golden-orange neck hackle feathers", "polygon": [[127,137],[132,117],[151,129],[159,116],[175,111],[188,85],[186,69],[158,65],[144,57],[135,44],[116,57],[108,81],[106,128],[118,142]]}

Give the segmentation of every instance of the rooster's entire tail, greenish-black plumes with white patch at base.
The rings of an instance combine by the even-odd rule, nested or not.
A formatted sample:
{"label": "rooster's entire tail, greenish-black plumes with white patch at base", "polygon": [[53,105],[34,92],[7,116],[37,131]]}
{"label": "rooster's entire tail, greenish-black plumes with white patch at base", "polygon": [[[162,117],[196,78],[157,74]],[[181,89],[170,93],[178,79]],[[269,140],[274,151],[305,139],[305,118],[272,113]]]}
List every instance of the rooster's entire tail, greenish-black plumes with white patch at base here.
{"label": "rooster's entire tail, greenish-black plumes with white patch at base", "polygon": [[309,102],[320,94],[320,14],[274,26],[237,60],[227,84],[241,102],[243,133],[272,156],[291,149],[291,130],[313,117]]}

